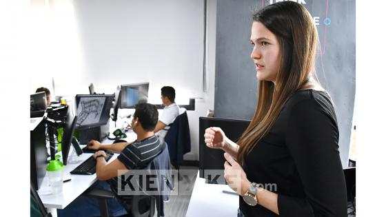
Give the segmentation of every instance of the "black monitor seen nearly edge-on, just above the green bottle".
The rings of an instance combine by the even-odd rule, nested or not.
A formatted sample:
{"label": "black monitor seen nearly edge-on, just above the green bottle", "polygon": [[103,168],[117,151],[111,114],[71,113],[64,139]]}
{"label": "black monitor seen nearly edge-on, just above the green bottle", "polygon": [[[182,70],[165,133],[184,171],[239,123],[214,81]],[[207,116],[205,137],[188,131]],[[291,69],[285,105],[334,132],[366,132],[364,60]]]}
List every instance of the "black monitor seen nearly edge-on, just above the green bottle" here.
{"label": "black monitor seen nearly edge-on, just above the green bottle", "polygon": [[61,156],[63,158],[63,165],[67,165],[67,158],[70,152],[71,144],[74,146],[74,149],[77,150],[78,155],[82,154],[79,143],[77,143],[76,138],[73,137],[76,123],[77,116],[72,117],[70,113],[68,113],[67,117],[65,118],[65,125],[61,142]]}

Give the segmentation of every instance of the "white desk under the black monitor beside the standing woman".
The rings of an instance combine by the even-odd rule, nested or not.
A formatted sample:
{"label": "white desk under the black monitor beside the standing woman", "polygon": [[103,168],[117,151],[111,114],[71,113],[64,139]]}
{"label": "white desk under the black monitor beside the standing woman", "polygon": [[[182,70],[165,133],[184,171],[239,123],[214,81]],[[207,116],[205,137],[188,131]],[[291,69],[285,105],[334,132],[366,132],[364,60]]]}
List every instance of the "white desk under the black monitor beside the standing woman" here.
{"label": "white desk under the black monitor beside the standing woman", "polygon": [[228,185],[206,184],[205,178],[200,178],[198,172],[186,216],[236,217],[238,196],[234,194],[225,194],[223,193],[223,190],[233,192]]}

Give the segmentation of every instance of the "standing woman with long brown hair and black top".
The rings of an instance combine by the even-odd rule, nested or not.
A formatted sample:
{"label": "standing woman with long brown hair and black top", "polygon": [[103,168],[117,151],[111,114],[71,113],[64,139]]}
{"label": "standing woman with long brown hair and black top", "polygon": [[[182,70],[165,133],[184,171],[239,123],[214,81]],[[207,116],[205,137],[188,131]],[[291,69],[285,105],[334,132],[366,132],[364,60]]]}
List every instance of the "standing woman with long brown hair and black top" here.
{"label": "standing woman with long brown hair and black top", "polygon": [[219,127],[205,131],[206,145],[225,151],[238,216],[347,216],[334,106],[314,75],[311,14],[293,1],[267,6],[254,14],[250,41],[258,79],[252,121],[237,143]]}

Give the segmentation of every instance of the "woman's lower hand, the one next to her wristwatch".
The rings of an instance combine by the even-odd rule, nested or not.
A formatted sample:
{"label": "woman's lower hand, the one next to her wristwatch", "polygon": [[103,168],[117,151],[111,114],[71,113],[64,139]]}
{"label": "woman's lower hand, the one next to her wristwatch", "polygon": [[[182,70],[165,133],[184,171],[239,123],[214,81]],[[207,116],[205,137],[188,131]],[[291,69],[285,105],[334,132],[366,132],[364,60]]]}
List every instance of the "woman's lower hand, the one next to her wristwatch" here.
{"label": "woman's lower hand, the one next to her wristwatch", "polygon": [[224,163],[224,178],[230,188],[237,192],[241,196],[248,191],[251,182],[247,179],[243,167],[239,165],[234,158],[227,152],[224,153],[224,157],[227,161]]}

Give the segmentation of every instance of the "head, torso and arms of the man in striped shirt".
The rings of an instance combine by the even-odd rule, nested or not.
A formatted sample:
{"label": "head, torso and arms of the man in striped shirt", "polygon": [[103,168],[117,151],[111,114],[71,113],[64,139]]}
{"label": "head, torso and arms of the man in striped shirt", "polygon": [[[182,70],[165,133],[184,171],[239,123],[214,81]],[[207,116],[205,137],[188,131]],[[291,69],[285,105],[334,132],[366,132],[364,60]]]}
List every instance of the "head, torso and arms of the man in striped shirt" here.
{"label": "head, torso and arms of the man in striped shirt", "polygon": [[[136,105],[134,118],[132,118],[132,130],[136,133],[136,141],[131,144],[114,143],[112,145],[101,145],[98,141],[88,143],[90,149],[104,149],[121,153],[116,160],[107,164],[105,152],[103,150],[95,152],[96,176],[99,180],[109,180],[116,177],[118,169],[141,169],[161,153],[161,144],[153,132],[157,121],[156,106],[140,103]],[[104,157],[101,158],[101,156]]]}

